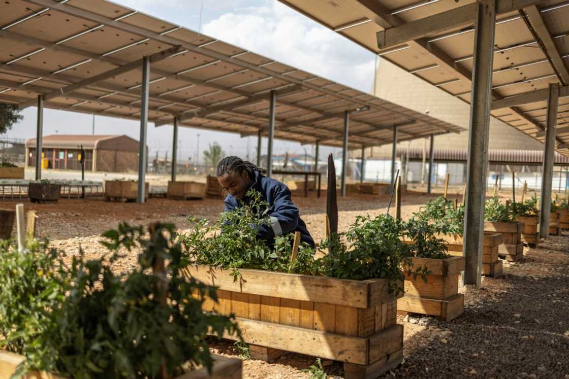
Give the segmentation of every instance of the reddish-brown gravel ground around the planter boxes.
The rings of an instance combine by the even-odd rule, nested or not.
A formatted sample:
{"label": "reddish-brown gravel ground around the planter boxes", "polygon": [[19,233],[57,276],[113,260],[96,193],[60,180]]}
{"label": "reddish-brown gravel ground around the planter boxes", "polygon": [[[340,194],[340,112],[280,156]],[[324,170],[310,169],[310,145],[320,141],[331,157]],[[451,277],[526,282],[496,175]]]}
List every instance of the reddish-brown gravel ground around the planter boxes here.
{"label": "reddish-brown gravel ground around the planter boxes", "polygon": [[[450,191],[456,197],[460,189]],[[417,211],[430,198],[409,193],[403,197],[402,216]],[[325,192],[321,198],[295,194],[315,240],[323,231]],[[11,208],[15,202],[0,202]],[[357,215],[386,212],[388,195],[350,195],[339,198],[339,229],[347,230]],[[153,220],[190,225],[188,215],[217,219],[221,199],[172,201],[152,198],[144,205],[108,203],[100,200],[62,199],[55,205],[26,203],[26,210],[39,215],[38,233],[68,255],[82,247],[88,257],[101,256],[101,232],[120,220],[146,224]],[[130,269],[135,254],[117,263],[117,270]],[[465,293],[464,315],[450,323],[432,318],[399,317],[405,327],[405,361],[387,377],[406,378],[565,378],[569,379],[569,235],[551,237],[539,249],[526,249],[525,259],[504,262],[504,276],[483,278],[480,290]],[[238,355],[233,343],[213,343],[215,352]],[[245,360],[244,378],[308,378],[303,372],[315,358],[288,354],[268,364]],[[341,378],[341,364],[324,361],[331,378]]]}

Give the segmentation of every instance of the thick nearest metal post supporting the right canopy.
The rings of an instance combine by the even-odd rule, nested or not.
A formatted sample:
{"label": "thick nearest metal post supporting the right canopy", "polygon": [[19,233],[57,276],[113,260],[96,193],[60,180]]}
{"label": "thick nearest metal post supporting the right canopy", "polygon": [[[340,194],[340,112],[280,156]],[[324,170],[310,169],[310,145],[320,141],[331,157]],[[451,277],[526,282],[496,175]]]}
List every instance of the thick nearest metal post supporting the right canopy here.
{"label": "thick nearest metal post supporting the right canopy", "polygon": [[476,6],[470,126],[468,130],[467,191],[464,213],[463,284],[480,288],[484,205],[488,179],[488,136],[492,103],[492,64],[496,0],[481,0]]}

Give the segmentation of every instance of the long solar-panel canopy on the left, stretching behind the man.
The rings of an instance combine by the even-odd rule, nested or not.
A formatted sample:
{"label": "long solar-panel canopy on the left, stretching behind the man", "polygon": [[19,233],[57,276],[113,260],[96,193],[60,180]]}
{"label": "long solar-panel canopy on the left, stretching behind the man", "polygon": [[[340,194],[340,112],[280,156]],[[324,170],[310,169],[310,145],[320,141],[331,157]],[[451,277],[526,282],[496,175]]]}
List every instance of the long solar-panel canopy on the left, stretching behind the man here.
{"label": "long solar-panel canopy on the left, stretching behind the man", "polygon": [[[138,119],[142,57],[151,56],[149,120],[349,146],[391,143],[463,128],[104,0],[0,4],[0,101]],[[359,110],[359,111],[356,111]]]}

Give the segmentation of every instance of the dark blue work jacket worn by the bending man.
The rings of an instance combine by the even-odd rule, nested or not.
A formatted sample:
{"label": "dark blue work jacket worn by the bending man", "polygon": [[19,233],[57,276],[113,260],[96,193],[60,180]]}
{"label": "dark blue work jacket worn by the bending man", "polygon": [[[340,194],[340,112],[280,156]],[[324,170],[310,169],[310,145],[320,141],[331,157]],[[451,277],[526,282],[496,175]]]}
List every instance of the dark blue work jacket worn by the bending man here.
{"label": "dark blue work jacket worn by the bending man", "polygon": [[[291,200],[290,190],[286,185],[273,178],[267,178],[258,171],[255,172],[255,182],[249,189],[255,189],[262,195],[263,201],[269,203],[268,215],[270,224],[265,224],[259,230],[258,238],[267,241],[269,246],[274,244],[275,236],[290,232],[300,232],[300,241],[314,247],[314,240],[310,236],[306,224],[300,219],[298,207]],[[247,203],[248,199],[245,198]],[[241,207],[239,201],[232,195],[225,197],[225,211]]]}

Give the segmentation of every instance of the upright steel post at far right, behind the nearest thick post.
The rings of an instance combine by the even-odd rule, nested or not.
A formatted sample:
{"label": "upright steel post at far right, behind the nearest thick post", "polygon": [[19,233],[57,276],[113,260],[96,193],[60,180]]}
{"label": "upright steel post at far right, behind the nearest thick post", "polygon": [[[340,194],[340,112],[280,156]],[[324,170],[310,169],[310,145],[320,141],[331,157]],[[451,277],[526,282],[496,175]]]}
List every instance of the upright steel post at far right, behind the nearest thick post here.
{"label": "upright steel post at far right, behind the nearest thick post", "polygon": [[559,85],[549,84],[547,99],[547,128],[545,149],[543,150],[543,170],[541,180],[541,212],[539,213],[539,236],[549,236],[549,216],[551,214],[551,186],[553,182],[553,164],[555,159],[555,127],[557,124],[557,107],[559,103]]}

